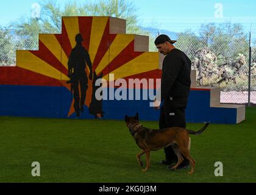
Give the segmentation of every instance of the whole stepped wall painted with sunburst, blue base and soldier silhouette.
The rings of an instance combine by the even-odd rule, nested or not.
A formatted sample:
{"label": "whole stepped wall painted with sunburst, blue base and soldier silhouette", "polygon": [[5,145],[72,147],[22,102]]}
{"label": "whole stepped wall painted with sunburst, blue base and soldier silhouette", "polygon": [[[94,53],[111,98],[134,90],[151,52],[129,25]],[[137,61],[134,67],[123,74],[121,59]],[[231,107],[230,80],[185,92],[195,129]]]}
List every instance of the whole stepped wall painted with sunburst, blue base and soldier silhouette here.
{"label": "whole stepped wall painted with sunburst, blue base and soldier silhouette", "polygon": [[[142,89],[121,86],[114,83],[117,79],[127,83],[129,79],[146,79],[148,83],[153,79],[149,88],[155,93],[161,59],[158,52],[148,52],[148,46],[148,37],[126,34],[124,19],[63,17],[62,34],[40,34],[38,51],[16,51],[16,66],[0,67],[0,115],[123,119],[126,114],[139,112],[141,119],[157,120],[159,111],[149,107],[149,99],[110,97],[111,91],[123,97],[133,88],[141,97],[144,90],[148,91],[148,85]],[[97,79],[107,82],[106,99],[95,98],[100,87]],[[211,90],[191,91],[187,121],[236,123],[244,119],[238,120],[237,107],[215,107],[213,111]],[[197,101],[197,96],[204,97],[205,105]],[[198,107],[204,107],[206,113],[199,113]],[[244,115],[244,107],[241,109]]]}

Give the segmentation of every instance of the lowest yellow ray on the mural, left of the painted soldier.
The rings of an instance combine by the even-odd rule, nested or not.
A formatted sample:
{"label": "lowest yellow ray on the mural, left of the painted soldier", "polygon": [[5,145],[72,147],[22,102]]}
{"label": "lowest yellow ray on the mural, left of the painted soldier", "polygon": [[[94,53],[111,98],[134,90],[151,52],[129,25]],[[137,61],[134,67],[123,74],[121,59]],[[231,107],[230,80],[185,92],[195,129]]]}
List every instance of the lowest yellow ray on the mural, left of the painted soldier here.
{"label": "lowest yellow ray on the mural, left of the painted soldier", "polygon": [[16,52],[16,66],[28,69],[35,73],[43,74],[48,77],[52,77],[58,80],[68,80],[69,78],[60,73],[59,70],[55,69],[48,63],[44,62],[29,51],[17,51]]}

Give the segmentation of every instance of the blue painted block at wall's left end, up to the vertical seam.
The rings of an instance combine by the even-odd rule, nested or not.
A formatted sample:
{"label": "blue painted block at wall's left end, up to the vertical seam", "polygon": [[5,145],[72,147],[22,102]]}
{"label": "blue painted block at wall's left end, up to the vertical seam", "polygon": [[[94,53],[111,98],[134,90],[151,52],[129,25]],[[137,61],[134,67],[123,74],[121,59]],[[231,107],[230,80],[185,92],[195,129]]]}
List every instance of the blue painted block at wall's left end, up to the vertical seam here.
{"label": "blue painted block at wall's left end, up to the vertical seam", "polygon": [[0,85],[0,115],[60,118],[60,87]]}

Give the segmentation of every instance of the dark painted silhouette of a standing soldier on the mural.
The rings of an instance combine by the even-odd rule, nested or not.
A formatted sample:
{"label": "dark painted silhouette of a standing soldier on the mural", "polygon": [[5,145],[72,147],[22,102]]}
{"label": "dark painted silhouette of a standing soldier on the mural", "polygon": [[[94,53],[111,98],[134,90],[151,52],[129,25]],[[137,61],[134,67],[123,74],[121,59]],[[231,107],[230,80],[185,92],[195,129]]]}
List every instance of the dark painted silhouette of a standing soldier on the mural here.
{"label": "dark painted silhouette of a standing soldier on the mural", "polygon": [[[69,55],[68,59],[68,77],[71,79],[71,93],[74,94],[74,110],[76,111],[76,116],[80,116],[80,112],[84,112],[85,96],[86,90],[88,88],[88,79],[85,72],[86,64],[90,69],[89,79],[92,79],[92,65],[90,55],[88,51],[82,46],[82,35],[76,35],[76,47],[74,47]],[[79,83],[80,83],[80,93],[79,94]]]}

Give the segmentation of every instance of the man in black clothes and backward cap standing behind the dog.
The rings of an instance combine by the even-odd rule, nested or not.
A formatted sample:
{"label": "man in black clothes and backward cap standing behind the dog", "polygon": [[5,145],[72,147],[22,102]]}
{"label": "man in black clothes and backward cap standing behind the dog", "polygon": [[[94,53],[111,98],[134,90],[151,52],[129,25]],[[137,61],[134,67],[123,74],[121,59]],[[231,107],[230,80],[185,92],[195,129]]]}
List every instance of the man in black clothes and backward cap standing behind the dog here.
{"label": "man in black clothes and backward cap standing behind the dog", "polygon": [[[161,79],[161,99],[163,105],[160,110],[159,128],[182,127],[186,128],[185,108],[187,107],[188,94],[190,92],[191,60],[188,56],[176,49],[167,35],[159,35],[155,39],[158,52],[165,55]],[[158,102],[160,103],[160,102]],[[157,109],[159,109],[158,104]],[[171,146],[165,148],[165,160],[163,165],[176,163],[177,157]],[[184,160],[178,167],[188,168],[189,161]],[[171,166],[168,166],[171,168]]]}

